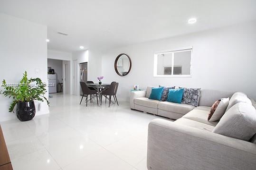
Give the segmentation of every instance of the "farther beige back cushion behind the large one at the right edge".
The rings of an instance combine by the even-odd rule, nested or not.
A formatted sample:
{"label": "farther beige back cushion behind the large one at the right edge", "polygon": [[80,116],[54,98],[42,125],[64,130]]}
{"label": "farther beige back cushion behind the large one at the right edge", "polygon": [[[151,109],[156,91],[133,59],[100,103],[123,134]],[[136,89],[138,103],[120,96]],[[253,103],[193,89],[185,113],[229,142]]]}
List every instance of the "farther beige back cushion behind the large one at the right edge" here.
{"label": "farther beige back cushion behind the large one at the right edge", "polygon": [[251,100],[247,97],[245,93],[236,92],[232,95],[231,99],[229,100],[226,111],[228,111],[228,109],[230,109],[232,106],[234,106],[238,102],[246,102],[248,104],[252,104]]}

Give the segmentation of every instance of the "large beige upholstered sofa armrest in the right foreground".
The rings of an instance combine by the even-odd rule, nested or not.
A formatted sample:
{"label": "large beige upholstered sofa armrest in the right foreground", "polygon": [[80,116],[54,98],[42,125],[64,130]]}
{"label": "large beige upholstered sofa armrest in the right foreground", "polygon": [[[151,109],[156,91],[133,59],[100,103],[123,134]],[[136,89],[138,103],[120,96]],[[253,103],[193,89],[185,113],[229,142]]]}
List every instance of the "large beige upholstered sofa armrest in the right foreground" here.
{"label": "large beige upholstered sofa armrest in the right foreground", "polygon": [[148,170],[255,170],[256,144],[162,119],[148,129]]}

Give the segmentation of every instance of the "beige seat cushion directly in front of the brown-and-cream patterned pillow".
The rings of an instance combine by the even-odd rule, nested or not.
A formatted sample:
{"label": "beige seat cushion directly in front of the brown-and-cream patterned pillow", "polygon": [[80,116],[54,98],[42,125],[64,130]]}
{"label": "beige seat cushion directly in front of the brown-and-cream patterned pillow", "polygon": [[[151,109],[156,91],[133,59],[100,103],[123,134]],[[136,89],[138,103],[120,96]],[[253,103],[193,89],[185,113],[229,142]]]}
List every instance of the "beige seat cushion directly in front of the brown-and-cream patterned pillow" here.
{"label": "beige seat cushion directly in front of the brown-and-cream patterned pillow", "polygon": [[218,124],[218,121],[209,122],[207,120],[209,111],[210,111],[210,107],[206,107],[206,106],[200,107],[199,106],[199,107],[195,108],[194,110],[191,110],[189,113],[184,115],[182,118],[198,121],[198,122],[215,127]]}

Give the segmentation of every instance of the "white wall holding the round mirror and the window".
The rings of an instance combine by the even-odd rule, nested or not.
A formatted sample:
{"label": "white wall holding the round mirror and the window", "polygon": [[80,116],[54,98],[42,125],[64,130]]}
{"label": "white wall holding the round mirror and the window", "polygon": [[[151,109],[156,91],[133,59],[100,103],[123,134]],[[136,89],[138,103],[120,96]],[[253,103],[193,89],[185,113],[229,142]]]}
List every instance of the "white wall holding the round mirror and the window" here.
{"label": "white wall holding the round mirror and the window", "polygon": [[[154,52],[193,46],[191,77],[153,77]],[[104,82],[119,82],[118,98],[129,99],[133,85],[180,85],[243,91],[256,99],[256,22],[218,28],[105,51]],[[127,76],[118,76],[114,60],[120,53],[132,59]]]}

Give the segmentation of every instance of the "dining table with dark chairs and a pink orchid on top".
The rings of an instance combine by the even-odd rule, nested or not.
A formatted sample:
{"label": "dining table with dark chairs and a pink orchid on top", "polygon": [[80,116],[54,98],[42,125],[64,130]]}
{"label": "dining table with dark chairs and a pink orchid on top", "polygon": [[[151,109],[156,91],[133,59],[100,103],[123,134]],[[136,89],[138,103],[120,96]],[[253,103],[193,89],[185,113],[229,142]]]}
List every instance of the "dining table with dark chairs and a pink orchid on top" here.
{"label": "dining table with dark chairs and a pink orchid on top", "polygon": [[98,77],[99,83],[94,83],[93,81],[86,81],[86,83],[80,82],[80,86],[83,93],[81,94],[82,98],[80,101],[80,105],[83,102],[83,99],[85,98],[86,107],[88,105],[88,102],[97,102],[97,105],[101,106],[102,100],[104,98],[105,104],[108,101],[108,107],[110,107],[111,103],[116,103],[119,106],[116,97],[119,83],[113,81],[110,84],[103,84],[100,81],[102,78],[103,77]]}

